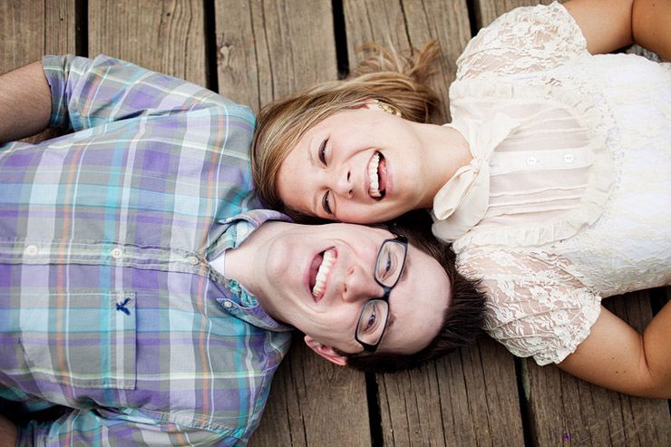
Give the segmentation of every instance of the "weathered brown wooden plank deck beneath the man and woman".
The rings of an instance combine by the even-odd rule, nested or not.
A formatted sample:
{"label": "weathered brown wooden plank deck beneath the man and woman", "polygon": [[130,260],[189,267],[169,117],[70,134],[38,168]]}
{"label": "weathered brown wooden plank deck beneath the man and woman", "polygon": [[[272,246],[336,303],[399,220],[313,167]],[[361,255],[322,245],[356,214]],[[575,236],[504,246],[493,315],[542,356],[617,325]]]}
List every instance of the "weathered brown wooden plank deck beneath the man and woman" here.
{"label": "weathered brown wooden plank deck beneath the man and woman", "polygon": [[[44,53],[98,53],[260,104],[346,73],[358,45],[440,39],[433,86],[481,26],[533,0],[3,0],[0,73]],[[548,3],[543,1],[543,3]],[[447,103],[447,102],[445,102]],[[447,119],[443,108],[438,121]],[[609,298],[642,329],[671,289]],[[422,371],[355,373],[296,340],[253,446],[671,445],[669,402],[586,384],[483,337]]]}

